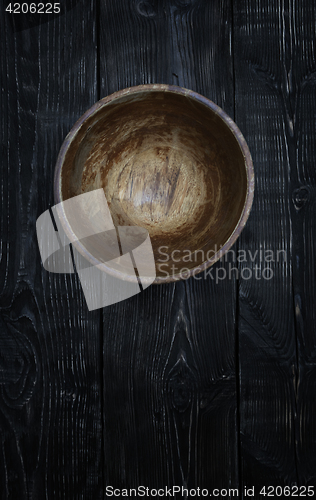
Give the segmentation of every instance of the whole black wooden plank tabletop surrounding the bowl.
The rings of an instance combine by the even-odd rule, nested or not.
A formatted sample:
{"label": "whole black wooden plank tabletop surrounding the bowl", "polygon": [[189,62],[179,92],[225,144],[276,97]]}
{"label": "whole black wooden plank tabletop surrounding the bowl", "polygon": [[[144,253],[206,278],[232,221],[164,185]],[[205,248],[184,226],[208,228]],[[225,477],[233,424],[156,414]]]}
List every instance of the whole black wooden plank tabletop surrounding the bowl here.
{"label": "whole black wooden plank tabletop surrounding the bowl", "polygon": [[[8,3],[1,500],[140,485],[240,497],[255,486],[259,499],[264,486],[316,485],[315,2],[73,0],[46,16],[5,13]],[[229,271],[218,262],[213,278],[89,312],[76,276],[43,270],[35,222],[54,204],[76,119],[156,82],[212,99],[248,142],[256,192],[234,247],[239,276],[216,283],[216,269]]]}

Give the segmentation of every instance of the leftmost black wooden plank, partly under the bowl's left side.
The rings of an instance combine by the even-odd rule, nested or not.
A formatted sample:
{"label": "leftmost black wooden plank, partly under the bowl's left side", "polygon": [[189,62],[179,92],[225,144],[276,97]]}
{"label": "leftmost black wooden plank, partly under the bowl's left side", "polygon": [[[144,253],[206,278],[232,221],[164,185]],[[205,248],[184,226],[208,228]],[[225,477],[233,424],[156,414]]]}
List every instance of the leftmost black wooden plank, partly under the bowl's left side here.
{"label": "leftmost black wooden plank, partly under the bowl's left side", "polygon": [[0,17],[1,498],[102,498],[100,313],[75,276],[43,270],[35,231],[61,143],[97,99],[95,3],[15,33]]}

